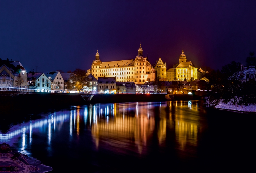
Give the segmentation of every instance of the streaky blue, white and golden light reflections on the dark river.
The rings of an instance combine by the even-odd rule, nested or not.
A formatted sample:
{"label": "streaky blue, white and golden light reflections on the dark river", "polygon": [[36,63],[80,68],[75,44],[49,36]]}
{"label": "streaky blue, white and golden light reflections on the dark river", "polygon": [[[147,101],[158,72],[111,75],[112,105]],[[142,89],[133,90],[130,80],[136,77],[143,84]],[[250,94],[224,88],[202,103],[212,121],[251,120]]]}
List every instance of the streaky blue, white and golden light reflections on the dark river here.
{"label": "streaky blue, white and golden light reflections on the dark river", "polygon": [[69,135],[70,140],[75,135],[74,132],[79,137],[80,131],[84,130],[80,129],[81,124],[86,126],[89,122],[88,125],[96,149],[100,143],[107,145],[108,148],[117,147],[120,149],[122,148],[121,144],[132,140],[140,154],[147,146],[147,141],[152,138],[152,133],[155,130],[159,145],[164,145],[167,126],[169,129],[173,129],[180,150],[185,150],[187,143],[190,146],[197,145],[197,132],[199,130],[198,104],[192,104],[191,101],[113,103],[79,106],[70,111],[54,112],[43,119],[12,127],[7,134],[0,135],[0,140],[11,146],[12,143],[20,143],[20,150],[29,154],[26,149],[29,149],[33,142],[33,133],[42,136],[47,135],[48,148],[51,150],[52,138],[55,140],[57,138],[54,135],[55,131],[61,131],[61,128],[65,128],[62,126],[66,122],[69,124],[69,133],[62,133],[61,135]]}

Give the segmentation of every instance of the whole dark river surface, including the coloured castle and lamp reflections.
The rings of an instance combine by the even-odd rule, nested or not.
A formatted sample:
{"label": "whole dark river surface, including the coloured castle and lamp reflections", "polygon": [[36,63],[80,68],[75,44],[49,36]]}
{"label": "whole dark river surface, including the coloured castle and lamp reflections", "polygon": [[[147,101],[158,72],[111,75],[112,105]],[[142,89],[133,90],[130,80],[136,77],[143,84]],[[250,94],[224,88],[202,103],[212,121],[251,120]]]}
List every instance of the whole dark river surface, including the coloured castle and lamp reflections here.
{"label": "whole dark river surface, including the coloured castle and lamp reflections", "polygon": [[199,101],[77,106],[0,134],[52,172],[211,172],[250,170],[255,114]]}

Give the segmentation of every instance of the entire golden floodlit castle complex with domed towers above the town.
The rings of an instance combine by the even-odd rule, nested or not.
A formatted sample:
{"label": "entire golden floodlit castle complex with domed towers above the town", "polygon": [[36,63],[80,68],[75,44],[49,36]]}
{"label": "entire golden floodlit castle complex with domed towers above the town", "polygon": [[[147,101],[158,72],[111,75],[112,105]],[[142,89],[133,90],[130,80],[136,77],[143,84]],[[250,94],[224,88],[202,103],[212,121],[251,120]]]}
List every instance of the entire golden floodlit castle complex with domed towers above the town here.
{"label": "entire golden floodlit castle complex with domed towers above the town", "polygon": [[148,57],[143,56],[143,50],[138,50],[136,58],[119,61],[100,61],[100,55],[95,55],[95,60],[88,73],[92,74],[96,79],[98,77],[114,77],[118,82],[135,82],[135,84],[144,84],[145,82],[155,81],[157,78],[164,81],[201,79],[201,74],[204,72],[201,68],[198,69],[191,61],[187,61],[187,57],[182,53],[179,58],[179,64],[173,66],[166,71],[166,63],[161,57],[155,64],[151,65]]}

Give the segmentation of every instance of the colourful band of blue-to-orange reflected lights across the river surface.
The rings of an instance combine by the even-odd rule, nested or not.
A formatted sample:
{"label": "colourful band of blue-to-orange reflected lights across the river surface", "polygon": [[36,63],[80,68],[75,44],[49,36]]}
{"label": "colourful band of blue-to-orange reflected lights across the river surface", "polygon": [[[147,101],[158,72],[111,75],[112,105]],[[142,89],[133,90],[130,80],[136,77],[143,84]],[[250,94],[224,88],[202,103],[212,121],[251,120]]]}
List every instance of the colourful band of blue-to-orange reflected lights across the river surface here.
{"label": "colourful band of blue-to-orange reflected lights across the river surface", "polygon": [[166,140],[171,140],[179,157],[195,156],[198,134],[204,130],[199,114],[204,111],[196,101],[78,106],[13,126],[9,132],[0,134],[0,141],[26,154],[33,154],[33,145],[40,144],[45,146],[48,156],[54,156],[60,142],[71,146],[75,141],[76,145],[84,146],[91,140],[91,149],[96,152],[104,149],[147,155],[152,146],[170,147]]}

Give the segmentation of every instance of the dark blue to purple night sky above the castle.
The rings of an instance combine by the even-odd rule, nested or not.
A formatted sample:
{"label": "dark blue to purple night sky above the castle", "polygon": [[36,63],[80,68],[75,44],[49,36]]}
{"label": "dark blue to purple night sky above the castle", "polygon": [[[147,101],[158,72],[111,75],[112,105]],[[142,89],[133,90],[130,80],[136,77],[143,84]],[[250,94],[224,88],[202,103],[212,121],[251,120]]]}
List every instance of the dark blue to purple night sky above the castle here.
{"label": "dark blue to purple night sky above the castle", "polygon": [[[196,2],[196,3],[195,3]],[[167,69],[182,49],[196,67],[256,52],[256,1],[0,1],[0,57],[31,71],[87,70],[143,49]]]}

